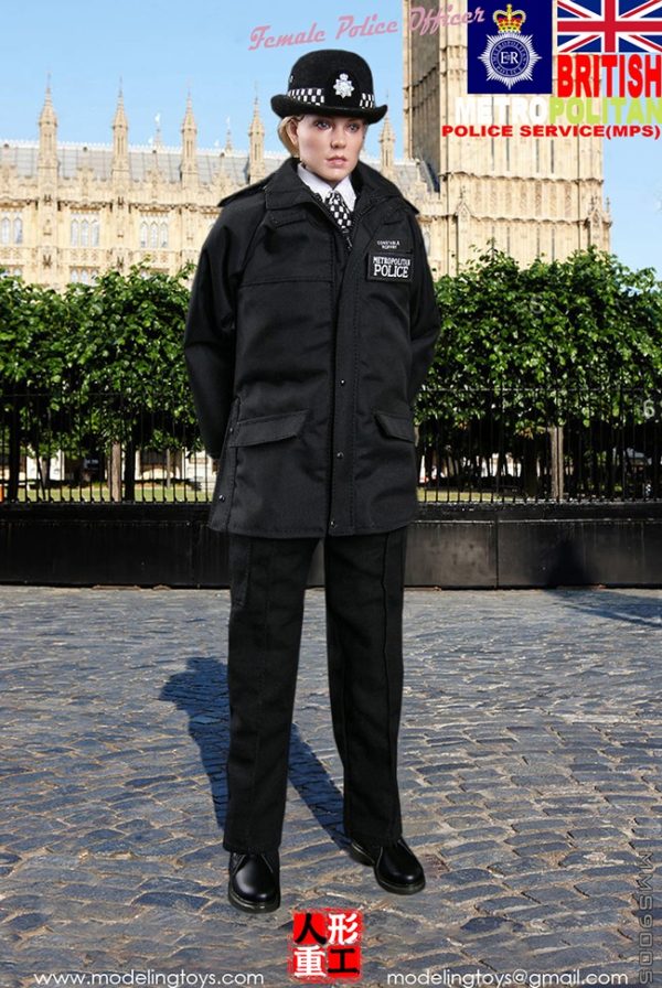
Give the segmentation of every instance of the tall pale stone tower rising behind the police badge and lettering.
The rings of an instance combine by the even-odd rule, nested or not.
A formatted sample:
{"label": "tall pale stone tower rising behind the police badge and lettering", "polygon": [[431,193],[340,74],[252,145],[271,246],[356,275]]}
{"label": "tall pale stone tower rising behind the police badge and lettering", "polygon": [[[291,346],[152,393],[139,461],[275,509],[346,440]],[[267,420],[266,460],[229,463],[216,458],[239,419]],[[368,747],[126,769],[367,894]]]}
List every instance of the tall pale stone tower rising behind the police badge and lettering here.
{"label": "tall pale stone tower rising behind the police badge and lettering", "polygon": [[412,7],[403,0],[404,144],[438,184],[429,254],[439,272],[455,273],[491,240],[523,265],[608,249],[601,140],[442,137],[467,95],[467,25],[412,30]]}

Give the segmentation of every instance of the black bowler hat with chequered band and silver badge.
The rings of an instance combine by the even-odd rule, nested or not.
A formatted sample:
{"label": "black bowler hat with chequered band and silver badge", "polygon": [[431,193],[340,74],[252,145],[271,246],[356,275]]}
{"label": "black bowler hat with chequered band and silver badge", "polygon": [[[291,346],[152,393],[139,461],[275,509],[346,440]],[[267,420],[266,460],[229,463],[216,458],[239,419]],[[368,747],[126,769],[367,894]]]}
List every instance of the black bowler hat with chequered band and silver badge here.
{"label": "black bowler hat with chequered band and silver badge", "polygon": [[372,72],[361,55],[322,49],[295,63],[287,94],[273,96],[271,109],[279,117],[317,112],[325,117],[361,117],[376,124],[388,107],[375,106]]}

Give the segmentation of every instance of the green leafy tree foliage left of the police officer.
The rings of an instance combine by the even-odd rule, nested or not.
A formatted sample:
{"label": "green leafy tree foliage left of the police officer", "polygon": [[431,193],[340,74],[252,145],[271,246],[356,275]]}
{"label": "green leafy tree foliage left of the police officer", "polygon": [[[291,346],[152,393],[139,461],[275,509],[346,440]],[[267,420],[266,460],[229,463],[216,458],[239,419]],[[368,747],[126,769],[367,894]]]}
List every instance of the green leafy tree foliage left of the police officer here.
{"label": "green leafy tree foliage left of the police officer", "polygon": [[19,396],[23,436],[72,452],[89,436],[193,443],[182,358],[190,273],[141,264],[63,292],[0,278],[0,390]]}

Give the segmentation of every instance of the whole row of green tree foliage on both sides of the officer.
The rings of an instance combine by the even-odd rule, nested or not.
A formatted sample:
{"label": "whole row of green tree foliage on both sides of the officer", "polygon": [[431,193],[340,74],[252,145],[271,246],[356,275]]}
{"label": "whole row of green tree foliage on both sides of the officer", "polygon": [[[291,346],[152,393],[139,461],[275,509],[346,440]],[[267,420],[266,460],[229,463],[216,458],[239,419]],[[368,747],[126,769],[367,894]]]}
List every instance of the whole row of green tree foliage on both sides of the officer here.
{"label": "whole row of green tree foliage on both sides of the officer", "polygon": [[[143,264],[62,292],[0,277],[0,391],[23,396],[14,431],[22,417],[29,442],[39,432],[72,453],[93,436],[200,448],[182,353],[190,275]],[[608,417],[618,388],[661,387],[662,282],[651,269],[595,249],[520,268],[493,249],[436,290],[442,329],[417,400],[424,429],[496,415],[509,434],[531,437]],[[30,406],[36,393],[47,399]]]}

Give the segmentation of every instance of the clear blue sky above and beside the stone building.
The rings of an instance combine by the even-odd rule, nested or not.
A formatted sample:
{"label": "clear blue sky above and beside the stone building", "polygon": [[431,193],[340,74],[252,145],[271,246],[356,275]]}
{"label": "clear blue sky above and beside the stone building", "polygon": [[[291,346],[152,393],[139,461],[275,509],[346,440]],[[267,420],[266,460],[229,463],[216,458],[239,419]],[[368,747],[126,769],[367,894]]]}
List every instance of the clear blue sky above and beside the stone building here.
{"label": "clear blue sky above and beside the stone building", "polygon": [[[319,47],[359,52],[371,64],[377,103],[388,103],[402,143],[402,6],[399,0],[24,0],[2,2],[0,141],[36,140],[50,78],[58,140],[109,144],[121,84],[129,143],[161,140],[179,147],[190,94],[199,148],[223,147],[227,121],[233,146],[247,149],[257,96],[265,147],[281,151],[269,99],[287,88],[292,64]],[[451,2],[451,0],[449,0]],[[466,0],[453,0],[465,10]],[[426,0],[421,6],[431,7]],[[363,35],[365,23],[396,22],[397,32]],[[317,43],[266,47],[265,35],[324,32]],[[350,30],[354,29],[354,36]],[[339,31],[343,31],[340,36]],[[253,49],[252,49],[253,45]],[[369,154],[378,154],[381,125],[371,128]],[[662,278],[662,142],[644,138],[605,141],[605,195],[613,225],[611,249],[631,268],[654,267]]]}

